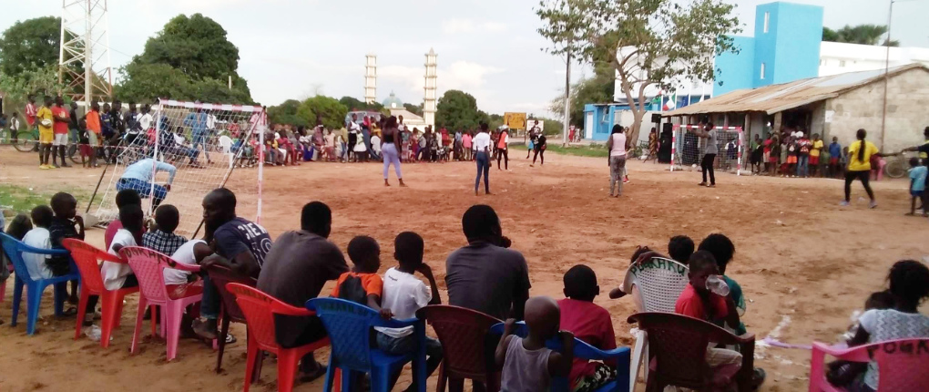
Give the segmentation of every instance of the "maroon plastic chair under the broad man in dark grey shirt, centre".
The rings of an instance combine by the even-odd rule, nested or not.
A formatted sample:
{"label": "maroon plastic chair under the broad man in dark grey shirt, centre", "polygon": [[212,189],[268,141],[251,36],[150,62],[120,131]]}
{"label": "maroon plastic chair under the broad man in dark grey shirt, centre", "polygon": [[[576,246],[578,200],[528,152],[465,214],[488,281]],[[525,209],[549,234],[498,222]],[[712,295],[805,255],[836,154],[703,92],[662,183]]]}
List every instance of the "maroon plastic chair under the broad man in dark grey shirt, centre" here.
{"label": "maroon plastic chair under the broad man in dark grey shirt, centre", "polygon": [[491,327],[501,320],[465,307],[448,305],[423,307],[416,312],[416,318],[432,325],[442,344],[438,392],[445,391],[449,379],[455,383],[455,387],[449,389],[463,390],[466,378],[484,383],[489,391],[500,389],[500,372],[493,362],[496,345],[488,339]]}

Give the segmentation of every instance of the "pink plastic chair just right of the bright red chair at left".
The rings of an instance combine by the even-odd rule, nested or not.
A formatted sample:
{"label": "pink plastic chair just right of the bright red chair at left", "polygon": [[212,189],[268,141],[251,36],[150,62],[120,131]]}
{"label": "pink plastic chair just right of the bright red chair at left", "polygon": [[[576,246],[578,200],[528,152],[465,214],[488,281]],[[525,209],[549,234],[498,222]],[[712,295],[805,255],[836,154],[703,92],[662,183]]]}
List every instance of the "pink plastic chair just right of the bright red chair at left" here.
{"label": "pink plastic chair just right of the bright red chair at left", "polygon": [[200,266],[177,263],[171,257],[138,246],[125,247],[120,250],[120,255],[129,262],[129,267],[136,274],[140,289],[136,331],[132,335],[132,353],[135,354],[138,347],[138,334],[142,331],[145,307],[157,305],[162,309],[162,334],[166,332],[164,337],[168,345],[167,359],[175,359],[177,340],[180,337],[180,320],[184,316],[184,308],[200,302],[203,297],[203,285],[189,285],[186,286],[186,290],[172,290],[169,293],[164,285],[164,268],[197,272],[200,271]]}

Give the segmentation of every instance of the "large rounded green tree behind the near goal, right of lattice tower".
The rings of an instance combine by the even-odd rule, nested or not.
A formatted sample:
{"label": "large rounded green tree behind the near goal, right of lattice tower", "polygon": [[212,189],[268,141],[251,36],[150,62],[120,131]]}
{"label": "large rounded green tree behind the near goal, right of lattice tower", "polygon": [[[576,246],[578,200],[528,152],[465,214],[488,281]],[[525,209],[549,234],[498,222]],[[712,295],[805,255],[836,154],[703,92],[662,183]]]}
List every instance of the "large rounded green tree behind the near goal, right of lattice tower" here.
{"label": "large rounded green tree behind the near goal, right of lattice tower", "polygon": [[238,68],[239,49],[229,42],[219,23],[201,14],[178,15],[146,42],[142,54],[120,70],[123,82],[117,97],[253,103]]}

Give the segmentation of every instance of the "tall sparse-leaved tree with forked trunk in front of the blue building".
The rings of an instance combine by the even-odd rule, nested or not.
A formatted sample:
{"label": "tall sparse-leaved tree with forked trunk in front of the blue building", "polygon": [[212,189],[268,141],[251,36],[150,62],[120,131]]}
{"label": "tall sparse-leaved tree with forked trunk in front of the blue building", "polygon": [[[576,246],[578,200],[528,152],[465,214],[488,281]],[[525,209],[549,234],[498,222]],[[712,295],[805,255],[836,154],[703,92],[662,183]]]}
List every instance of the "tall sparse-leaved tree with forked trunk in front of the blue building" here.
{"label": "tall sparse-leaved tree with forked trunk in front of the blue building", "polygon": [[612,70],[635,116],[635,140],[649,86],[711,81],[720,72],[713,54],[738,50],[727,35],[740,32],[732,9],[724,0],[543,0],[536,14],[549,53]]}

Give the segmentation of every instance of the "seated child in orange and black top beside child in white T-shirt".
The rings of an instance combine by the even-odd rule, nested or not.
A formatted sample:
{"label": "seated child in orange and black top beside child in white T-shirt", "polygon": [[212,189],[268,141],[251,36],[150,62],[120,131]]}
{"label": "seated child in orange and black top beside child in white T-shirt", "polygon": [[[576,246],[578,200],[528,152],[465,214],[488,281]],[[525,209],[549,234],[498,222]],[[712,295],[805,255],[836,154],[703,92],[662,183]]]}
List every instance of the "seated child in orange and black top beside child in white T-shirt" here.
{"label": "seated child in orange and black top beside child in white T-shirt", "polygon": [[381,246],[368,236],[358,236],[348,242],[348,257],[355,265],[335,281],[335,298],[347,299],[381,312],[381,316],[392,317],[390,309],[381,308],[384,281],[377,274],[381,268]]}

